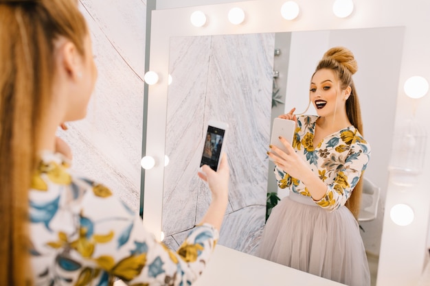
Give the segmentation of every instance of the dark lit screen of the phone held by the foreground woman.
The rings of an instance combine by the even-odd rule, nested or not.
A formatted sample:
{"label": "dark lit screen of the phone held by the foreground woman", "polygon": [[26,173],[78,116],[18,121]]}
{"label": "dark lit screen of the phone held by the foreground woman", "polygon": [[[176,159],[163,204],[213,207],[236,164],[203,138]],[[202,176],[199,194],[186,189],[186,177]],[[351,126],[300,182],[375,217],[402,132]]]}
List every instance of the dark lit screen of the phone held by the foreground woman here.
{"label": "dark lit screen of the phone held by the foreground woman", "polygon": [[201,156],[200,167],[208,165],[216,171],[220,160],[221,146],[224,141],[225,130],[214,126],[207,126],[205,136],[205,146],[203,147],[203,155]]}

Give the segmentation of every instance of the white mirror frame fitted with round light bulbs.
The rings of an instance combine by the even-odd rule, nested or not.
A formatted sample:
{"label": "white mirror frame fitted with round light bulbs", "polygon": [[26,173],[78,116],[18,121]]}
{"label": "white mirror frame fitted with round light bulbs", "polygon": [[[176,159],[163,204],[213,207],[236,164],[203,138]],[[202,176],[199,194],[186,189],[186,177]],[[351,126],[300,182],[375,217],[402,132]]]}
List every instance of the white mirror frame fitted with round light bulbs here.
{"label": "white mirror frame fitted with round light bulbs", "polygon": [[[267,0],[240,1],[152,12],[149,70],[159,75],[159,82],[148,86],[146,155],[154,158],[164,158],[165,155],[169,49],[170,38],[175,36],[404,26],[405,44],[398,82],[396,125],[411,115],[416,102],[405,95],[403,91],[405,80],[413,75],[421,75],[430,80],[430,26],[422,24],[426,23],[430,14],[429,4],[420,0],[411,0],[408,3],[360,0],[355,1],[351,16],[339,19],[332,13],[331,2],[297,0],[301,11],[299,18],[286,21],[280,13],[285,1],[271,0],[270,5]],[[232,25],[228,21],[227,14],[234,7],[245,10],[246,19],[241,25]],[[201,10],[207,16],[204,27],[194,27],[190,23],[190,15],[196,10]],[[420,106],[430,106],[429,96],[420,99],[418,107]],[[415,116],[422,122],[430,122],[430,112],[420,114],[418,110]],[[430,126],[427,124],[425,128],[429,134]],[[430,174],[429,153],[430,150],[427,150],[425,154],[427,165],[422,174]],[[144,178],[144,225],[155,233],[156,237],[161,237],[163,174],[163,165],[159,164],[146,170]],[[378,286],[416,285],[425,261],[430,191],[424,175],[418,176],[414,189],[408,191],[389,183],[385,209],[389,210],[398,203],[407,203],[411,206],[416,217],[408,226],[397,226],[389,219],[389,215],[385,215],[376,281]]]}

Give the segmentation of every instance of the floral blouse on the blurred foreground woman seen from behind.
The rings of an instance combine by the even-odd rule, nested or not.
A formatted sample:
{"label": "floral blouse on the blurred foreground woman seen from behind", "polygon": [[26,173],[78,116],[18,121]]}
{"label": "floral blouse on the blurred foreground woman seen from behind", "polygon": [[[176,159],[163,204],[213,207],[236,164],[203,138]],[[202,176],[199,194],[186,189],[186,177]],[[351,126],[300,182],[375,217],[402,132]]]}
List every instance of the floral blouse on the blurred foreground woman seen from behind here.
{"label": "floral blouse on the blurred foreground woman seen from behind", "polygon": [[35,285],[190,285],[214,250],[218,231],[196,226],[177,252],[155,240],[102,184],[70,174],[46,152],[30,190],[31,264]]}

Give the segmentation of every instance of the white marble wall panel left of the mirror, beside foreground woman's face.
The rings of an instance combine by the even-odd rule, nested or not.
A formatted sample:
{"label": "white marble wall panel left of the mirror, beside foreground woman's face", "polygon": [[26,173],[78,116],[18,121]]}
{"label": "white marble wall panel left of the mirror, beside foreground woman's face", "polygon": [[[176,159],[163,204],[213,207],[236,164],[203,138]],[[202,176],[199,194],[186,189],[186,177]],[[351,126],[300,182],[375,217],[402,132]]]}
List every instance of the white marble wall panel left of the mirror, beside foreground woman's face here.
{"label": "white marble wall panel left of the mirror, beside foreground woman's face", "polygon": [[87,119],[58,135],[72,168],[106,184],[139,211],[144,107],[146,0],[80,0],[93,42],[98,81]]}

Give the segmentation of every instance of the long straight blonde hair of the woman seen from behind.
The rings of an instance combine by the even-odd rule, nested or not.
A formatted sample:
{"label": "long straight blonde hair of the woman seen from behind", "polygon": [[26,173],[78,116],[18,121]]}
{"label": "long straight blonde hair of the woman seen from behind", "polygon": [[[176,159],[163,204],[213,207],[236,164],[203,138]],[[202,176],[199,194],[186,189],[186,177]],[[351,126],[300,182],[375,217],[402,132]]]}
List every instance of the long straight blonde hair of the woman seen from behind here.
{"label": "long straight blonde hair of the woman seen from behind", "polygon": [[84,56],[87,34],[76,0],[0,0],[0,285],[32,284],[28,190],[52,100],[54,42],[64,36]]}

